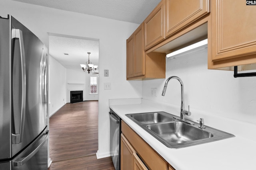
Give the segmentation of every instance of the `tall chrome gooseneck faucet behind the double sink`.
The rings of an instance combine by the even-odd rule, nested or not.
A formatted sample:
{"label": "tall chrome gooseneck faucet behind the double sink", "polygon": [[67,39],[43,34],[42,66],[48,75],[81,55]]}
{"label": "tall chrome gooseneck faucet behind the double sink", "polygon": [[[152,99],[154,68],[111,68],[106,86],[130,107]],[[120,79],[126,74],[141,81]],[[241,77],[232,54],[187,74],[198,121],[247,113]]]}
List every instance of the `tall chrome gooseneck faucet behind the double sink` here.
{"label": "tall chrome gooseneck faucet behind the double sink", "polygon": [[[166,82],[165,82],[165,84],[164,84],[164,89],[163,89],[163,91],[162,91],[162,96],[164,96],[165,95],[165,92],[166,92],[166,88],[167,88],[167,84],[168,84],[168,82],[169,82],[169,80],[171,80],[171,79],[177,79],[179,82],[180,82],[180,86],[181,86],[181,107],[180,107],[180,119],[179,120],[181,120],[181,121],[184,121],[184,122],[186,122],[186,123],[189,123],[189,124],[194,124],[193,122],[190,122],[190,121],[188,121],[188,120],[186,120],[185,119],[185,115],[188,115],[188,116],[190,116],[191,115],[191,112],[189,111],[189,106],[188,106],[188,111],[186,111],[185,109],[184,109],[184,87],[183,87],[183,82],[182,82],[182,80],[179,78],[179,77],[177,77],[177,76],[171,76],[171,77],[169,77],[167,80],[166,80]],[[176,118],[176,117],[174,117],[174,118]],[[176,118],[177,119],[177,118]]]}

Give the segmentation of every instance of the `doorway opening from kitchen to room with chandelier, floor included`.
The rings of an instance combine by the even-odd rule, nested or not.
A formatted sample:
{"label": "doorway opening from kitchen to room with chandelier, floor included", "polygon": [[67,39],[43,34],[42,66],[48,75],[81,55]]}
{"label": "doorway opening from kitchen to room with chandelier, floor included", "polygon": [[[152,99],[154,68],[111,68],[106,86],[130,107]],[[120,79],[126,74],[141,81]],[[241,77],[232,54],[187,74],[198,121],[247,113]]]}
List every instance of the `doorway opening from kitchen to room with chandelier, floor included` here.
{"label": "doorway opening from kitchen to room with chandelier, floor included", "polygon": [[[96,80],[98,80],[99,72],[97,68],[96,71],[88,74],[88,72],[84,72],[80,66],[80,64],[86,64],[86,61],[88,61],[88,52],[91,53],[90,61],[92,64],[98,65],[98,68],[100,68],[99,39],[49,33],[48,101],[50,102],[50,131],[51,134],[55,135],[50,136],[50,158],[53,162],[88,155],[96,156],[98,150],[99,91],[96,90],[97,93],[91,94],[90,77],[95,76],[97,77]],[[62,111],[64,111],[64,113],[61,113]],[[60,114],[63,115],[60,116]],[[92,120],[92,118],[95,118],[95,120]],[[58,120],[62,120],[62,122],[57,123],[58,125],[54,125],[54,123],[56,123],[55,121]],[[66,123],[71,120],[75,122],[66,125]],[[84,129],[84,127],[80,128],[80,126],[88,125],[88,123],[91,124],[91,127],[95,128],[86,130],[89,135],[82,135],[82,133],[86,132],[79,131],[79,129]],[[68,126],[68,129],[66,129],[67,133],[68,131],[72,131],[72,133],[67,136],[65,136],[67,133],[64,133],[63,136],[61,131],[52,129],[54,126],[61,127],[61,131]],[[56,136],[59,137],[55,138]],[[79,144],[77,141],[82,141],[82,143]],[[51,142],[54,142],[54,144]],[[81,152],[73,145],[78,145]],[[90,150],[84,145],[91,145],[91,148],[96,149]],[[92,147],[92,145],[94,147]],[[53,146],[58,147],[54,149]],[[63,148],[60,148],[61,146]],[[86,149],[83,150],[82,148]],[[66,153],[56,154],[64,150]],[[90,150],[90,152],[87,153],[85,150]],[[64,157],[61,158],[56,155]]]}

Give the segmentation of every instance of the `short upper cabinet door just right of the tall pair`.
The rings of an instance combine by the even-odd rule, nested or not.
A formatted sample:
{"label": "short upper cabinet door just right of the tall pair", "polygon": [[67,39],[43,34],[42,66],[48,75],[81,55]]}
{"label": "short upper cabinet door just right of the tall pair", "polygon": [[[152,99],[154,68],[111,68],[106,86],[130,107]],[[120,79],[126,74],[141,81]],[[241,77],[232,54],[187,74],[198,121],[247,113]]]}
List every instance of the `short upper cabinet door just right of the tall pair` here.
{"label": "short upper cabinet door just right of the tall pair", "polygon": [[164,0],[144,21],[145,50],[164,39]]}

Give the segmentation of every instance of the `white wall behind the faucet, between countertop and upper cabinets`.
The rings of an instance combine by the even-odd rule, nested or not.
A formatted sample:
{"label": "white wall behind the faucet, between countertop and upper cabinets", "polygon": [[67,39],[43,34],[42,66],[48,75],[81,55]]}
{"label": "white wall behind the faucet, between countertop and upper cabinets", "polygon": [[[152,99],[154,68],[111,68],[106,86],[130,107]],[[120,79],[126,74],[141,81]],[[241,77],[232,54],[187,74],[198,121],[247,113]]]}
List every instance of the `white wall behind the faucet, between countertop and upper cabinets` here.
{"label": "white wall behind the faucet, between countertop and upper cabinets", "polygon": [[[190,105],[192,114],[196,115],[195,109],[256,124],[256,77],[234,78],[233,74],[232,71],[208,70],[207,49],[166,59],[166,79],[170,76],[182,79],[185,107],[188,109]],[[170,80],[166,95],[161,95],[166,79],[143,81],[142,97],[180,108],[178,80]],[[156,97],[151,96],[151,88],[157,88]]]}

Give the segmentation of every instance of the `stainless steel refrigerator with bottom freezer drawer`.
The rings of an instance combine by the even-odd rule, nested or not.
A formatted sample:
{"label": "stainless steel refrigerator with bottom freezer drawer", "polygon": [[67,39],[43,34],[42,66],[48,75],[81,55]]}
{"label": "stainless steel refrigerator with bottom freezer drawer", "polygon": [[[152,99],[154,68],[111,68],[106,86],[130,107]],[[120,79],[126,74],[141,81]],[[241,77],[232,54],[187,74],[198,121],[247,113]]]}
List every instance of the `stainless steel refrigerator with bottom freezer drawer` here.
{"label": "stainless steel refrigerator with bottom freezer drawer", "polygon": [[0,17],[0,170],[47,170],[47,48]]}

